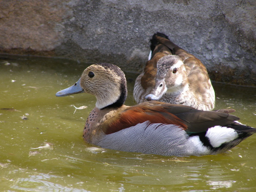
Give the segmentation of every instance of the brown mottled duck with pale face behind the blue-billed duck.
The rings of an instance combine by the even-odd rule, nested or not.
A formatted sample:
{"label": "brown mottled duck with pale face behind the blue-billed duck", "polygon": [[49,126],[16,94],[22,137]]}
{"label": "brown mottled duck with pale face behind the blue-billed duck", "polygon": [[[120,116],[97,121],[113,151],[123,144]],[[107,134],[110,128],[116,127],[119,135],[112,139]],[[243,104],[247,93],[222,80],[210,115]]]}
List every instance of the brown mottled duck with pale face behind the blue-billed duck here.
{"label": "brown mottled duck with pale face behind the blue-billed duck", "polygon": [[214,108],[214,89],[199,59],[162,33],[153,35],[150,53],[143,73],[135,81],[133,97],[137,103],[155,100],[200,110]]}

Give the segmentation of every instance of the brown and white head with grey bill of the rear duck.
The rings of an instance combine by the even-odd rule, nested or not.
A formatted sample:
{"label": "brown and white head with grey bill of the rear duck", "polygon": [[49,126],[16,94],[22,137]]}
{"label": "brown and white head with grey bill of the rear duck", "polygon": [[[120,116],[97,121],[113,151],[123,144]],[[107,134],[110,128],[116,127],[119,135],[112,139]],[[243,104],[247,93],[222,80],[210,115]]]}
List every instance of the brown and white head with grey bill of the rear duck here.
{"label": "brown and white head with grey bill of the rear duck", "polygon": [[186,69],[177,55],[167,55],[157,62],[155,87],[145,99],[159,100],[166,92],[179,92],[187,85]]}

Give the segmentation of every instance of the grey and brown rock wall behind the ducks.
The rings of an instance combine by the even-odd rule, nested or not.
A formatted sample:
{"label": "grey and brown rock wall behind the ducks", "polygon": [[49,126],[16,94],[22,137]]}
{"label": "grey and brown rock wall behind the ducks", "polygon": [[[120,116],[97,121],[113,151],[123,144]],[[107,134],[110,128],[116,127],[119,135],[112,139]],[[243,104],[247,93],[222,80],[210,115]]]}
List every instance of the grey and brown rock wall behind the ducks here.
{"label": "grey and brown rock wall behind the ducks", "polygon": [[256,85],[255,0],[2,0],[0,53],[109,62],[141,72],[159,31],[214,81]]}

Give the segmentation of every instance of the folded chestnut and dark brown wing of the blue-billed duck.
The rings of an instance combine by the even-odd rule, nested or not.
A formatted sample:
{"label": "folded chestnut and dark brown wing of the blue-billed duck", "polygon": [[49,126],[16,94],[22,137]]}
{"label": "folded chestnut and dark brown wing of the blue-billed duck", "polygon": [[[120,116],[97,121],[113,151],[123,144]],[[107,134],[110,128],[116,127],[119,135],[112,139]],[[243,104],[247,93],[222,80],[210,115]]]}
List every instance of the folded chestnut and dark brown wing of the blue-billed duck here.
{"label": "folded chestnut and dark brown wing of the blue-billed duck", "polygon": [[238,117],[228,113],[202,111],[184,105],[173,105],[158,101],[143,102],[125,109],[105,123],[105,133],[110,134],[138,123],[173,124],[188,133],[206,132],[216,125],[236,124]]}

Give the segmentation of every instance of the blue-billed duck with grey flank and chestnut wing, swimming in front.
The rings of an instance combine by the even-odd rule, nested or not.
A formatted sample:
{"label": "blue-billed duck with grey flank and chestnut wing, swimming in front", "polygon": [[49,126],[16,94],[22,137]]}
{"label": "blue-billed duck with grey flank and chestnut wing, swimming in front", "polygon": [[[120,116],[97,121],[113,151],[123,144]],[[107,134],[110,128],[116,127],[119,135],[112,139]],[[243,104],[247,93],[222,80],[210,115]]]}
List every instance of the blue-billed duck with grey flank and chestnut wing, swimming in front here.
{"label": "blue-billed duck with grey flank and chestnut wing, swimming in front", "polygon": [[83,139],[103,148],[199,156],[227,151],[256,132],[236,123],[239,118],[229,114],[231,109],[202,111],[159,101],[126,106],[125,75],[113,64],[89,66],[78,82],[56,96],[76,93],[90,93],[97,98],[86,120]]}

